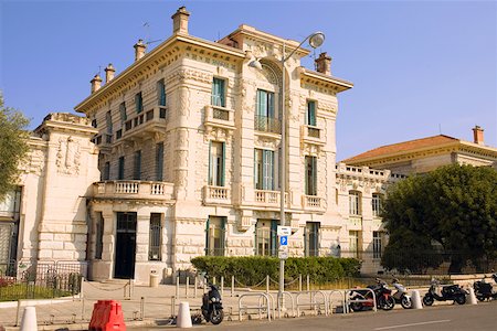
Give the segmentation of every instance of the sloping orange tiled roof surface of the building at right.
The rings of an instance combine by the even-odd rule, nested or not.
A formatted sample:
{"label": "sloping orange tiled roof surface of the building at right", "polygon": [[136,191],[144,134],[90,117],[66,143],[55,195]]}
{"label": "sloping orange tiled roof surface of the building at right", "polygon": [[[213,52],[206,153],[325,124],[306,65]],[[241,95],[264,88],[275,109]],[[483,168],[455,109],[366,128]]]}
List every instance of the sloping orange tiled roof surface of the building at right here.
{"label": "sloping orange tiled roof surface of the building at right", "polygon": [[353,162],[361,162],[366,160],[372,160],[372,159],[379,159],[384,157],[390,157],[393,154],[403,154],[416,150],[423,150],[423,149],[430,149],[435,148],[440,146],[450,145],[453,142],[461,142],[459,139],[445,136],[445,135],[438,135],[427,138],[421,138],[421,139],[414,139],[409,140],[404,142],[398,142],[393,145],[387,145],[382,146],[376,149],[371,149],[367,152],[363,152],[361,154],[355,156],[352,158],[349,158],[347,160],[343,160],[345,163],[352,164]]}

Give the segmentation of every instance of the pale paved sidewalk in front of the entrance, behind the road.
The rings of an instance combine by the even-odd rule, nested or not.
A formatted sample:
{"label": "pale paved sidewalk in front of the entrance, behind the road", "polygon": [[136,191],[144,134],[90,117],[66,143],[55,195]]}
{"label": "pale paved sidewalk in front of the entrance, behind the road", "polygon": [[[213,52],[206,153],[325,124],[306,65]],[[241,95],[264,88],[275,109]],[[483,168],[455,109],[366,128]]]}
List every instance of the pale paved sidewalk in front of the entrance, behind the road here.
{"label": "pale paved sidewalk in front of the entrance, behind the road", "polygon": [[[172,309],[173,302],[171,300],[176,295],[176,290],[175,285],[159,285],[156,288],[135,286],[129,298],[129,286],[125,281],[85,281],[83,285],[83,298],[76,296],[74,298],[53,300],[22,300],[19,310],[18,302],[0,302],[0,327],[3,325],[6,331],[19,330],[19,327],[15,327],[15,324],[18,323],[19,325],[24,307],[35,306],[39,330],[87,330],[92,318],[93,306],[97,300],[119,301],[123,307],[126,327],[167,327],[168,319],[177,313]],[[231,290],[224,288],[223,306],[226,320],[230,320],[230,314],[233,319],[237,320],[239,295],[247,292],[253,291],[248,289],[236,289],[236,292],[232,297]],[[329,293],[329,291],[326,292]],[[195,309],[200,308],[202,293],[203,289],[198,288],[197,297],[194,298],[194,290],[191,286],[188,290],[188,298],[186,298],[186,286],[181,285],[179,290],[180,299],[176,299],[175,310],[178,309],[179,302],[188,301],[192,312],[195,311]],[[272,291],[272,293],[275,295],[276,292]],[[310,302],[308,295],[303,295],[300,299],[303,299],[303,303]],[[334,301],[336,300],[339,300],[338,296],[334,297]],[[247,297],[243,300],[244,305],[250,303],[254,306],[257,305],[257,297]],[[435,305],[441,303],[447,305],[448,302],[436,302]],[[400,305],[395,307],[400,308]],[[307,312],[306,316],[308,316]],[[244,320],[246,319],[247,317],[244,316]]]}

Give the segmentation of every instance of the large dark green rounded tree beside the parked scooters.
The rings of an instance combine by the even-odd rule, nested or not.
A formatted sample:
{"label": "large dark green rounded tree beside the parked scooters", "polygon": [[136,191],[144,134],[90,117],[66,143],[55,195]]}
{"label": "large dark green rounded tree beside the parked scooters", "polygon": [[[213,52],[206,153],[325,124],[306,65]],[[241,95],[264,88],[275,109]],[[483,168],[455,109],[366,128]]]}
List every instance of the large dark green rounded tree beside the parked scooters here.
{"label": "large dark green rounded tree beside the parked scooters", "polygon": [[436,267],[440,252],[451,259],[450,273],[467,261],[480,268],[497,256],[497,171],[452,164],[411,177],[390,188],[382,216],[390,233],[385,267]]}

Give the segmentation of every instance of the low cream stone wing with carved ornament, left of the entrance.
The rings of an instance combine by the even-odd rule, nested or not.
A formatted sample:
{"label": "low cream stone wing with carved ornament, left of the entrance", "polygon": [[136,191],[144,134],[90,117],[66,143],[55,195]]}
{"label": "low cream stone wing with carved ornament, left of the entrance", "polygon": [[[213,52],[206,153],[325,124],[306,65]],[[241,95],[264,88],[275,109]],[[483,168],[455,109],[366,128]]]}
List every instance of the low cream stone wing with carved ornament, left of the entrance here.
{"label": "low cream stone wing with carved ornament, left of the entrance", "polygon": [[89,141],[96,132],[72,114],[50,114],[33,131],[19,189],[0,204],[0,273],[11,261],[71,261],[85,270],[85,196],[99,177]]}

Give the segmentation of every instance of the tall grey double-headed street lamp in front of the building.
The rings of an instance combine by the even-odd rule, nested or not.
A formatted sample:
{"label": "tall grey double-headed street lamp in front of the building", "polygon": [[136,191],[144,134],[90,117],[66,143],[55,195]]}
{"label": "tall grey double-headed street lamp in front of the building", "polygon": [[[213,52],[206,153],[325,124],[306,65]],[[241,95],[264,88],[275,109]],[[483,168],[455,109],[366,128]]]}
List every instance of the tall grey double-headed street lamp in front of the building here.
{"label": "tall grey double-headed street lamp in front of the building", "polygon": [[[325,42],[325,34],[320,31],[309,34],[304,39],[296,49],[292,51],[287,56],[285,56],[285,41],[283,41],[283,52],[279,64],[282,65],[282,164],[279,164],[281,171],[281,183],[279,183],[279,225],[285,225],[285,183],[286,183],[286,94],[285,94],[285,62],[295,54],[295,52],[306,42],[309,41],[309,46],[313,49],[319,47]],[[248,66],[262,70],[261,62],[256,58],[248,63]],[[278,286],[278,306],[279,298],[283,298],[283,291],[285,290],[285,259],[279,259],[279,286]],[[282,305],[283,306],[283,305]]]}

